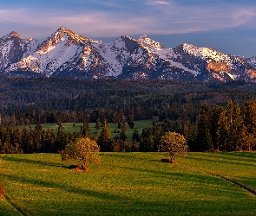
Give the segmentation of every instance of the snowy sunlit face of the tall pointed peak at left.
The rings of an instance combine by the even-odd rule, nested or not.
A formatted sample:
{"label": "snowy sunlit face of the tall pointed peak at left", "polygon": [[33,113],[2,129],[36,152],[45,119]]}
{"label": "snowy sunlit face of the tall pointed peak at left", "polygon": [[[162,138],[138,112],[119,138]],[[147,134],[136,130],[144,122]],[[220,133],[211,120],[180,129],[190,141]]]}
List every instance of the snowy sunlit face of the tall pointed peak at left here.
{"label": "snowy sunlit face of the tall pointed peak at left", "polygon": [[59,67],[62,67],[65,62],[72,58],[75,59],[75,56],[78,56],[78,59],[82,59],[85,47],[100,42],[101,41],[93,41],[89,38],[77,35],[69,29],[61,27],[46,41],[43,41],[36,52],[12,64],[7,72],[26,70],[44,73],[50,76],[52,73],[55,73]]}

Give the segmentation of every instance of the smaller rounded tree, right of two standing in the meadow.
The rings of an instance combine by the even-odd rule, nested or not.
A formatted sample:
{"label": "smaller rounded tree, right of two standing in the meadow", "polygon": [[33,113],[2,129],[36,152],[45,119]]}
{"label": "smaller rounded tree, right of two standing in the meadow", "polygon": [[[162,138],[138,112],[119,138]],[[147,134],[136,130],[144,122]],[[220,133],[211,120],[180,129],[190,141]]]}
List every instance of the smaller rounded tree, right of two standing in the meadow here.
{"label": "smaller rounded tree, right of two standing in the meadow", "polygon": [[161,137],[161,150],[168,152],[171,163],[174,163],[176,156],[187,153],[187,140],[179,133],[167,132]]}

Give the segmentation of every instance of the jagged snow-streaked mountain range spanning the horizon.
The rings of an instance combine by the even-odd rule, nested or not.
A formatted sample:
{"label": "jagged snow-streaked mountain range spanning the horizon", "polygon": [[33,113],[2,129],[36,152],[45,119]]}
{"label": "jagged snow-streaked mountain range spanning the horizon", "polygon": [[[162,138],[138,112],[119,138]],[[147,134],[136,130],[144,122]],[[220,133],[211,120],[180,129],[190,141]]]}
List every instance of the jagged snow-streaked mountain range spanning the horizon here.
{"label": "jagged snow-streaked mountain range spanning the horizon", "polygon": [[0,75],[80,79],[256,81],[256,57],[183,44],[164,48],[142,35],[95,41],[61,27],[42,43],[16,32],[0,39]]}

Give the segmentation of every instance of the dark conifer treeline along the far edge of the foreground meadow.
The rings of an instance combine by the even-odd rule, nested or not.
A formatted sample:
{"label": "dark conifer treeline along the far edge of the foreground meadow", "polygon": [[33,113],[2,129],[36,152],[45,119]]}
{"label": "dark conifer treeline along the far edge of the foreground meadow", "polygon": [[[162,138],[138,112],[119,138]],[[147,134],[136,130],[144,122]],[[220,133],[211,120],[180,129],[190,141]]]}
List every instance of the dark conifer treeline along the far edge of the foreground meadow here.
{"label": "dark conifer treeline along the far edge of the foreground meadow", "polygon": [[[152,126],[146,127],[139,134],[132,119],[123,118],[119,122],[116,136],[111,137],[107,120],[97,118],[95,128],[101,130],[99,137],[91,135],[89,114],[83,120],[81,130],[76,133],[66,132],[62,124],[56,131],[42,129],[37,124],[34,129],[0,127],[0,153],[57,153],[77,137],[94,139],[102,151],[158,151],[161,137],[167,131],[179,132],[187,138],[190,151],[242,151],[256,150],[256,102],[254,99],[238,105],[228,101],[226,106],[209,106],[200,108],[196,120],[183,118],[166,118],[160,122],[153,118]],[[134,128],[132,141],[126,135],[127,128]]]}

